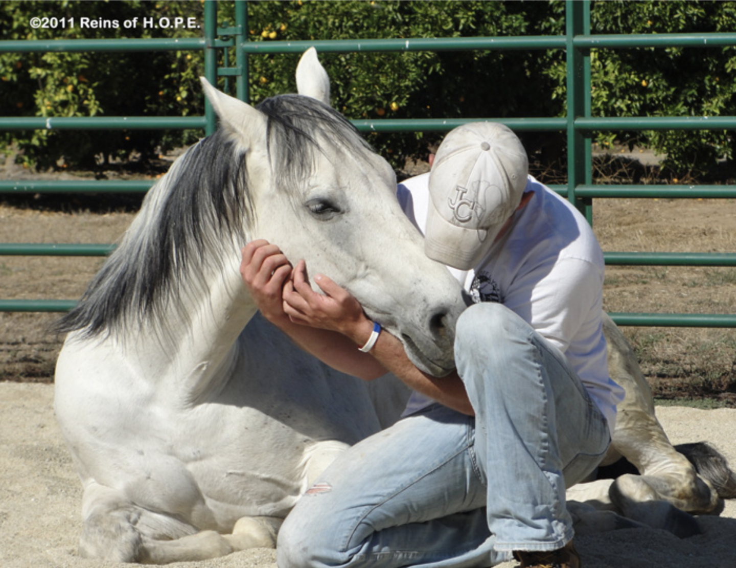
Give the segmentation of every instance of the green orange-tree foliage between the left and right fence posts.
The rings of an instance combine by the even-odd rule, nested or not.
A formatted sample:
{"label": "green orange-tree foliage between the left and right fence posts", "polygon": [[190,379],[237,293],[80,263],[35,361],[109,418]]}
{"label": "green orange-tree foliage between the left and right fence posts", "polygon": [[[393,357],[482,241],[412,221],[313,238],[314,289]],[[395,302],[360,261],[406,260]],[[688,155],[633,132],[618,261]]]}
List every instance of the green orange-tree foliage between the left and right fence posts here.
{"label": "green orange-tree foliage between the left and right fence posts", "polygon": [[[461,38],[564,32],[562,2],[249,1],[253,41]],[[348,118],[557,116],[562,102],[540,97],[564,54],[550,52],[404,52],[320,54],[332,102]],[[298,55],[249,58],[254,102],[293,92]],[[426,157],[442,133],[370,133],[369,142],[396,167]]]}

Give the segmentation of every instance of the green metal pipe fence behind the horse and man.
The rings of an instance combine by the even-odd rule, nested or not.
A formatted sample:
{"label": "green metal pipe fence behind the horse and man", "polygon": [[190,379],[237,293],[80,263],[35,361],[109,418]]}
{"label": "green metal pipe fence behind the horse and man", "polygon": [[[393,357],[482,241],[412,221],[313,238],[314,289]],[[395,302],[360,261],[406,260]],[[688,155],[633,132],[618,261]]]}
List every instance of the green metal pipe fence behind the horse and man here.
{"label": "green metal pipe fence behind the horse and man", "polygon": [[[592,49],[627,49],[635,47],[718,49],[736,46],[736,33],[592,35],[590,1],[567,0],[564,36],[526,36],[493,38],[414,38],[394,40],[316,40],[249,42],[247,2],[236,1],[235,25],[216,26],[216,1],[205,1],[203,38],[161,40],[63,40],[0,41],[0,52],[46,51],[152,51],[202,49],[205,52],[205,77],[213,84],[217,77],[234,79],[236,96],[247,101],[248,57],[253,54],[301,53],[310,46],[319,52],[411,52],[488,50],[564,49],[567,55],[567,116],[555,118],[484,118],[503,122],[517,132],[561,131],[567,133],[567,178],[565,186],[552,186],[573,202],[592,221],[592,199],[605,198],[682,198],[736,199],[736,187],[724,185],[593,185],[592,135],[598,131],[637,131],[657,129],[732,129],[736,117],[606,117],[591,116],[590,51]],[[235,62],[224,51],[224,66],[217,66],[218,51],[235,47]],[[234,65],[230,65],[234,63]],[[0,118],[0,129],[168,129],[202,128],[213,132],[215,117],[209,104],[202,117],[91,117],[91,118]],[[478,118],[474,118],[478,120]],[[353,121],[361,132],[447,132],[464,119],[381,119]],[[69,182],[69,181],[0,181],[0,193],[144,192],[149,182]],[[0,255],[106,255],[111,246],[78,244],[0,244]],[[606,252],[609,265],[650,266],[736,266],[736,254],[729,253],[634,253]],[[73,300],[0,299],[0,311],[63,311]],[[683,327],[736,327],[736,314],[612,313],[622,325]]]}

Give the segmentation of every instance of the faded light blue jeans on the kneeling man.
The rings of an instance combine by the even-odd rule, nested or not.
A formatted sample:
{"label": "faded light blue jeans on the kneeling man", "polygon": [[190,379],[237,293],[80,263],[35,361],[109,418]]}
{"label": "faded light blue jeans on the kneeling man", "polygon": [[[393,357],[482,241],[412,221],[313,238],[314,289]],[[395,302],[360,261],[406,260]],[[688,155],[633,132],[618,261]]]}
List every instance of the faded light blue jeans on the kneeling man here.
{"label": "faded light blue jeans on the kneeling man", "polygon": [[280,568],[483,567],[573,536],[565,488],[610,442],[564,355],[502,305],[473,305],[455,357],[475,418],[432,405],[341,455],[286,518]]}

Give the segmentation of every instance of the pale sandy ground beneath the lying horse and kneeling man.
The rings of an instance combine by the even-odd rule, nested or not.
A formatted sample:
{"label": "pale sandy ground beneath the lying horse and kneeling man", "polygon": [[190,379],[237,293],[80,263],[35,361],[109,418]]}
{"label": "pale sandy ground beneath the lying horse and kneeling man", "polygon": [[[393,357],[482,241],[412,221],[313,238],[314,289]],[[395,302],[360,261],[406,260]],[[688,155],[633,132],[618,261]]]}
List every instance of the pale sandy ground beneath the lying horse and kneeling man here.
{"label": "pale sandy ground beneath the lying horse and kneeling man", "polygon": [[[0,566],[118,567],[77,555],[82,488],[54,419],[53,386],[0,383]],[[736,465],[736,409],[659,407],[673,443],[707,440]],[[703,534],[680,540],[660,530],[578,537],[586,568],[736,567],[736,502],[701,517]],[[516,566],[502,564],[504,568]],[[249,550],[175,567],[275,568],[272,550]]]}

